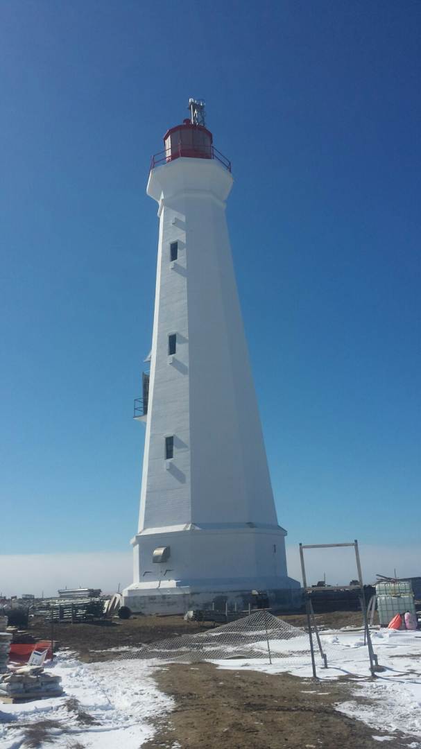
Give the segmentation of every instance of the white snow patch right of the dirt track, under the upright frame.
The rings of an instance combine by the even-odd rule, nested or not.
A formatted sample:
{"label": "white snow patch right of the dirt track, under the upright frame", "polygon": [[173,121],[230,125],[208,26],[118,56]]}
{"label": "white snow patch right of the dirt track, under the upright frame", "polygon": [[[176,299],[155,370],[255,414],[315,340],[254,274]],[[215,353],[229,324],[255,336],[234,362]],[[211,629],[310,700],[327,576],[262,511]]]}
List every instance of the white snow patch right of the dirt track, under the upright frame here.
{"label": "white snow patch right of the dirt track, under the upright frame", "polygon": [[[327,654],[328,668],[324,669],[321,659],[316,658],[318,678],[337,679],[339,676],[349,676],[356,682],[353,692],[357,700],[339,703],[336,709],[377,730],[387,733],[399,730],[414,739],[420,739],[410,746],[414,749],[421,748],[421,632],[372,632],[378,664],[384,667],[375,679],[369,678],[369,655],[367,646],[364,646],[363,631],[321,632],[321,643]],[[318,655],[317,643],[314,644]],[[294,676],[312,676],[306,638],[272,641],[270,647],[276,655],[282,653],[282,658],[272,658],[271,665],[267,655],[264,658],[213,663],[219,668],[253,669],[264,673],[288,671]],[[256,643],[256,650],[260,654],[264,650],[264,642]],[[360,683],[357,685],[357,682]],[[392,738],[393,736],[390,737]],[[383,741],[384,737],[376,739]]]}

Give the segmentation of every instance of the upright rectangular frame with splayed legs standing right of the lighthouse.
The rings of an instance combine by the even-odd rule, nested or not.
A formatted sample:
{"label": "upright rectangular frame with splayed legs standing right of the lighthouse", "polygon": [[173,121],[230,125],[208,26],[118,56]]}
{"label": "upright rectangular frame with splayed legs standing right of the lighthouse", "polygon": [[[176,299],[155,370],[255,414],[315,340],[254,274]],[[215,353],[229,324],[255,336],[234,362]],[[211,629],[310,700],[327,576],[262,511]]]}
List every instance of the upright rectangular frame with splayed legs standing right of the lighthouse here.
{"label": "upright rectangular frame with splayed legs standing right of the lighthouse", "polygon": [[317,675],[316,675],[316,670],[315,670],[315,658],[314,658],[314,649],[313,649],[313,642],[312,642],[312,623],[315,628],[315,634],[318,640],[318,647],[320,649],[321,656],[324,659],[325,668],[327,668],[327,658],[326,658],[326,655],[324,655],[324,652],[321,648],[321,641],[320,641],[320,637],[318,634],[318,628],[315,622],[315,616],[314,616],[314,610],[313,610],[312,598],[311,598],[312,592],[315,590],[320,590],[320,587],[307,585],[306,566],[304,564],[304,549],[331,549],[331,548],[339,548],[343,546],[354,547],[359,584],[358,585],[333,585],[333,586],[329,586],[329,589],[330,590],[360,590],[360,604],[361,604],[361,610],[363,612],[363,622],[364,622],[364,640],[366,640],[367,646],[369,649],[370,672],[372,676],[375,676],[375,671],[381,670],[378,665],[377,655],[375,655],[375,652],[373,650],[372,638],[371,638],[370,630],[369,630],[369,622],[367,620],[366,596],[364,594],[363,572],[361,570],[360,551],[358,549],[357,539],[354,539],[354,542],[345,543],[345,544],[306,544],[306,545],[300,544],[301,573],[303,574],[303,588],[306,592],[307,625],[309,627],[310,651],[312,653],[312,670],[313,670],[313,676],[315,677],[315,679],[317,678]]}

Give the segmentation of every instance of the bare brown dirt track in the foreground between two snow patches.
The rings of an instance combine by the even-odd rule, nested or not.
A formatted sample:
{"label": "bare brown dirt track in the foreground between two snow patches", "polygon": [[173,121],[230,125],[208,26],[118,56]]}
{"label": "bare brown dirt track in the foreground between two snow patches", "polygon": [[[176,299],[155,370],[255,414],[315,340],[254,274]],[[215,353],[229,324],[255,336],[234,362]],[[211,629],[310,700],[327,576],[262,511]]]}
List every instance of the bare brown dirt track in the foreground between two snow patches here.
{"label": "bare brown dirt track in the foreground between two snow patches", "polygon": [[[221,670],[212,664],[170,664],[154,678],[177,707],[144,749],[378,749],[384,736],[337,712],[347,682],[314,682],[289,674]],[[353,685],[355,686],[355,685]],[[385,742],[408,747],[411,739]]]}

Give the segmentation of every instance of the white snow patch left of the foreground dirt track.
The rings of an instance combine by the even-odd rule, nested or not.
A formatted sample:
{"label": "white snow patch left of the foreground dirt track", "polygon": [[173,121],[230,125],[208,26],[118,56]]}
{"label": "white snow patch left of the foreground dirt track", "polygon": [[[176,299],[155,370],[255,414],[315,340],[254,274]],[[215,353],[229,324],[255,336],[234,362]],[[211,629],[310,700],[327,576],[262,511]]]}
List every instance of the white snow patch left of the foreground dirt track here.
{"label": "white snow patch left of the foreground dirt track", "polygon": [[[61,676],[64,696],[14,705],[0,703],[1,748],[22,747],[22,724],[58,721],[62,727],[49,731],[54,747],[68,749],[80,742],[86,749],[139,749],[154,734],[149,721],[166,715],[174,706],[154,682],[154,665],[139,660],[82,664],[72,653],[59,652],[48,670]],[[79,706],[69,711],[66,703],[70,698],[78,700]],[[86,713],[94,723],[86,723]]]}

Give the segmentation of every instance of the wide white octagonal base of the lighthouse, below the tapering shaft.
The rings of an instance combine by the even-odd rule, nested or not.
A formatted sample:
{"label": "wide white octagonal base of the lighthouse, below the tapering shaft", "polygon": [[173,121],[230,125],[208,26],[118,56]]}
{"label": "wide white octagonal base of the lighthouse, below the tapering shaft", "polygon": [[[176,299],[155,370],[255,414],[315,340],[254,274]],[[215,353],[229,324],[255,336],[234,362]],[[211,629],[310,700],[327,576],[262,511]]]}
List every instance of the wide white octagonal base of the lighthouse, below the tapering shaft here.
{"label": "wide white octagonal base of the lighthouse, below the tapering shaft", "polygon": [[[257,590],[270,607],[291,609],[301,588],[287,574],[285,535],[279,526],[255,523],[143,530],[132,539],[134,582],[123,591],[124,605],[133,613],[227,604],[242,610],[255,604]],[[155,562],[164,551],[165,561]]]}

